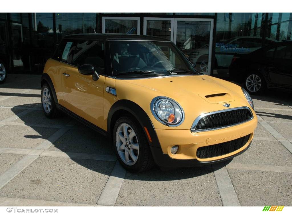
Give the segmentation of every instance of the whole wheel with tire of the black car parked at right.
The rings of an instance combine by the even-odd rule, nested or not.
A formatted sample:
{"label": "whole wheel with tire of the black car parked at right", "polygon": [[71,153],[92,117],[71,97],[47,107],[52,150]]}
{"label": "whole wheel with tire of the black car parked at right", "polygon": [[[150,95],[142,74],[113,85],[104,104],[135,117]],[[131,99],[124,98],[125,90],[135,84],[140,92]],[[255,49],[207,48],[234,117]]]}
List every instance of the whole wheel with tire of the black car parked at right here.
{"label": "whole wheel with tire of the black car parked at right", "polygon": [[[250,81],[253,81],[253,78],[256,83],[255,86],[252,85],[253,82],[250,82]],[[260,79],[260,81],[258,79]],[[267,89],[267,84],[264,77],[262,76],[262,74],[258,72],[251,72],[251,73],[246,74],[246,76],[244,77],[243,84],[244,84],[244,89],[246,89],[246,91],[251,95],[263,94],[265,90]],[[253,89],[254,87],[255,89]]]}

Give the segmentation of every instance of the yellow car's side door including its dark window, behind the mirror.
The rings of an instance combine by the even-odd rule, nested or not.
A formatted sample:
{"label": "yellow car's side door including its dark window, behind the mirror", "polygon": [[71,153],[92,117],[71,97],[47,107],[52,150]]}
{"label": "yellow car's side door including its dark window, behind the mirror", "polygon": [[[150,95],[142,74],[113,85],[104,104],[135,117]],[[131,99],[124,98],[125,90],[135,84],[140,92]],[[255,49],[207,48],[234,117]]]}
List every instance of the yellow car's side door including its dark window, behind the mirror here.
{"label": "yellow car's side door including its dark window, behind the mirror", "polygon": [[[105,83],[104,42],[77,40],[69,49],[71,63],[63,72],[63,96],[65,106],[71,112],[94,125],[104,128],[103,92]],[[99,73],[98,80],[92,75],[79,73],[78,67],[83,64],[93,65]]]}

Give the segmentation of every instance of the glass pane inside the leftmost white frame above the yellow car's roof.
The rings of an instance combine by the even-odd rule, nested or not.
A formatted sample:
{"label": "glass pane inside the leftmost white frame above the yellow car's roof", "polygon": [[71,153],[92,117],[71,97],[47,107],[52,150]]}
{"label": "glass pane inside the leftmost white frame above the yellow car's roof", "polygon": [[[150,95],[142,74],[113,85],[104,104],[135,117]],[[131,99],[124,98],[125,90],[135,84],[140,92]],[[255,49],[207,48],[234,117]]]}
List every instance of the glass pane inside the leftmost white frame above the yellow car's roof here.
{"label": "glass pane inside the leftmost white frame above the yellow car's roof", "polygon": [[105,33],[138,34],[138,20],[105,19]]}

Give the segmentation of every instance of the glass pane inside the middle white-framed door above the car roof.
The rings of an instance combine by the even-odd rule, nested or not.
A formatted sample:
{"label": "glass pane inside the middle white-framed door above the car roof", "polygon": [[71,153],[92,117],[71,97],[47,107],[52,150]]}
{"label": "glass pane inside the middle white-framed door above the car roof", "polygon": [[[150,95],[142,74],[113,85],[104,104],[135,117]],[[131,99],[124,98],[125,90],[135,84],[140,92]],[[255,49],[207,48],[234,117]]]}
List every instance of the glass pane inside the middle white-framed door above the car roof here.
{"label": "glass pane inside the middle white-framed door above the car roof", "polygon": [[171,20],[147,20],[146,35],[171,39]]}

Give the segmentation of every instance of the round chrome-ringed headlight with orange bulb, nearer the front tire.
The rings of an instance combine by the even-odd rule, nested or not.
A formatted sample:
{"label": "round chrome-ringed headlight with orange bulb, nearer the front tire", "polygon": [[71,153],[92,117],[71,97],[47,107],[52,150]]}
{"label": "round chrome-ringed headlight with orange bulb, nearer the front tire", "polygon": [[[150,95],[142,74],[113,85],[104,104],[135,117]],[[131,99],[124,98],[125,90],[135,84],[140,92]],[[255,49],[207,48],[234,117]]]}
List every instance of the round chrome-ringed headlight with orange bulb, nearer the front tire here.
{"label": "round chrome-ringed headlight with orange bulb, nearer the front tire", "polygon": [[183,108],[173,99],[156,97],[150,107],[153,116],[166,126],[179,126],[185,119]]}

